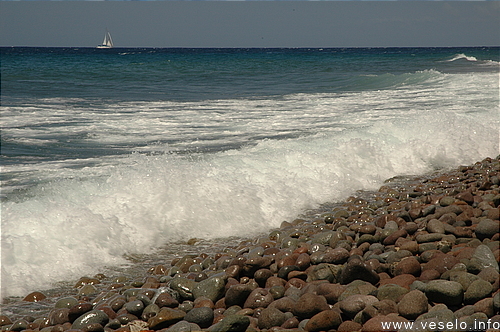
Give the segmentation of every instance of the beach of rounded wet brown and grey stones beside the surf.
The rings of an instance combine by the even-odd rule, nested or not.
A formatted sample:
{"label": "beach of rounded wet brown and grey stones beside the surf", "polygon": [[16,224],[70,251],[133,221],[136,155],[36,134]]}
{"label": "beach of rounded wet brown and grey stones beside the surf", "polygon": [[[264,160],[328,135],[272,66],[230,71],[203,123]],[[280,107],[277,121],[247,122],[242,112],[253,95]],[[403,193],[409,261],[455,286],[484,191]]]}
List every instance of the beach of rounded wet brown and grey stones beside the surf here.
{"label": "beach of rounded wet brown and grey stones beside the surf", "polygon": [[0,328],[500,330],[499,184],[500,156],[393,178],[220,250],[191,239],[134,277],[5,299]]}

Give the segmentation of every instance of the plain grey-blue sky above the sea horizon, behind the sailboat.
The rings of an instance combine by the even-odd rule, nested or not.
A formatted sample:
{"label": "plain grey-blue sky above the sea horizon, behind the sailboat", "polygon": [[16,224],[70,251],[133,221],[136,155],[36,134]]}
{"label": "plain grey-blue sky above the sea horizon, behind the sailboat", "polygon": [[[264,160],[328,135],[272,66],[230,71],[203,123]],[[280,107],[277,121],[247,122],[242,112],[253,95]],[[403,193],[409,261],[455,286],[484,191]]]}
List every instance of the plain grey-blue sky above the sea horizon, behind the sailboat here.
{"label": "plain grey-blue sky above the sea horizon, behind the sailboat", "polygon": [[0,46],[499,46],[500,1],[0,1]]}

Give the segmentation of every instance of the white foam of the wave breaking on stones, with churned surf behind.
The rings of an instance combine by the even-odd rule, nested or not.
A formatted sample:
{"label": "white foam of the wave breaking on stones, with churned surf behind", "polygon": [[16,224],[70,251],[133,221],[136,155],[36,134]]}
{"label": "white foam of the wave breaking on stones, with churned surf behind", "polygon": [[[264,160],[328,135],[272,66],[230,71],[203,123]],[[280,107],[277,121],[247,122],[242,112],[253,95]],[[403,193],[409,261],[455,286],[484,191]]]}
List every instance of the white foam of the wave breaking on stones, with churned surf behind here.
{"label": "white foam of the wave breaking on stones, with churned surf behind", "polygon": [[[159,139],[161,131],[169,135],[168,128],[178,128],[187,139],[149,143],[139,152],[76,170],[47,164],[39,174],[57,171],[58,180],[2,205],[2,296],[92,274],[122,263],[127,252],[148,252],[170,241],[251,236],[317,204],[375,189],[395,175],[497,156],[498,95],[492,93],[491,74],[438,78],[437,85],[440,80],[446,85],[442,90],[423,84],[185,103],[185,118],[180,108],[175,113],[176,103],[136,103],[144,112],[134,118],[118,107],[108,110],[106,126],[114,128],[109,134],[96,113],[96,135],[87,139],[116,143],[149,139],[148,133]],[[193,132],[188,124],[192,128],[195,118],[202,125]],[[227,135],[210,137],[224,128]],[[131,135],[123,134],[127,130]],[[272,130],[283,137],[262,139]],[[197,135],[205,143],[196,141]],[[141,153],[249,138],[246,146],[208,154]]]}

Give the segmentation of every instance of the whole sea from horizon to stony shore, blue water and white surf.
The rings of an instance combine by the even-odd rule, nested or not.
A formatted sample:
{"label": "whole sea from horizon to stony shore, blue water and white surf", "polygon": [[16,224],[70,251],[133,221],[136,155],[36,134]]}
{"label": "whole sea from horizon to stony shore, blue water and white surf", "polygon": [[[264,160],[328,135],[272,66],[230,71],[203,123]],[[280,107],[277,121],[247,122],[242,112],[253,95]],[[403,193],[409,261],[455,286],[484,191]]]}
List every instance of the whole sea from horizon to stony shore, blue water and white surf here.
{"label": "whole sea from horizon to stony shore, blue water and white surf", "polygon": [[499,64],[498,47],[1,48],[2,297],[496,157]]}

